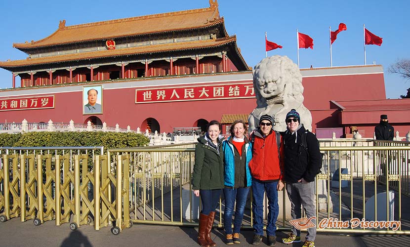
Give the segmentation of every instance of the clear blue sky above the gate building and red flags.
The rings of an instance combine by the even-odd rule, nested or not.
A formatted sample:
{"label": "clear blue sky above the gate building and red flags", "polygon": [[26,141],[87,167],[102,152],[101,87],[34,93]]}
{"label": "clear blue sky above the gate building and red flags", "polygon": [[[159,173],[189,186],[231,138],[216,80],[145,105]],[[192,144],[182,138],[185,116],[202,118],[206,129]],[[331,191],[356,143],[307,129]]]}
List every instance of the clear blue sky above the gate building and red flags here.
{"label": "clear blue sky above the gate building and red flags", "polygon": [[[296,29],[314,39],[314,49],[300,49],[300,68],[328,67],[329,26],[334,31],[340,22],[347,31],[339,33],[332,45],[333,66],[364,64],[363,24],[383,38],[383,44],[366,45],[367,63],[383,65],[387,98],[406,94],[410,82],[387,73],[399,58],[410,59],[409,0],[218,0],[229,35],[237,35],[249,66],[265,57],[265,32],[268,40],[283,45],[268,51],[268,56],[287,55],[297,63]],[[27,55],[12,47],[13,42],[37,41],[66,25],[119,19],[170,11],[208,7],[208,0],[6,0],[1,4],[0,60],[25,59]],[[407,16],[407,17],[406,17]],[[11,73],[0,69],[0,87],[11,87]],[[354,90],[354,88],[352,88]]]}

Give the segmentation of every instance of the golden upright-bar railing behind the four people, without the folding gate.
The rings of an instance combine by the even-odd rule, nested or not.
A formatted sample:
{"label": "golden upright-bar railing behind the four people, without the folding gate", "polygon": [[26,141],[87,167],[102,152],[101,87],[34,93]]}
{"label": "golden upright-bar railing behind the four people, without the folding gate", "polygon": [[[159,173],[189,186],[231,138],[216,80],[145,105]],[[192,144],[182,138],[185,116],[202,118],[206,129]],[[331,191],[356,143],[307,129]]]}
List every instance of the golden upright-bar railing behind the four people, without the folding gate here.
{"label": "golden upright-bar railing behind the four people, without the folding gate", "polygon": [[[398,161],[400,160],[401,166],[389,169],[390,173],[387,176],[389,182],[384,184],[379,184],[382,166],[377,159],[380,153],[386,149],[390,150],[389,152],[396,152],[397,157],[408,157],[410,148],[408,146],[375,147],[369,141],[366,143],[369,145],[358,147],[360,144],[351,142],[352,145],[344,147],[321,147],[325,156],[323,172],[318,174],[316,179],[317,229],[319,232],[337,233],[410,234],[410,215],[403,218],[401,210],[403,206],[402,193],[405,192],[402,178],[405,176],[403,171],[406,159],[397,158]],[[132,181],[130,200],[135,203],[135,208],[131,211],[132,222],[187,226],[197,224],[201,208],[199,199],[193,196],[190,180],[180,176],[183,174],[181,170],[192,171],[194,165],[193,148],[168,148],[167,150],[135,148],[109,150],[109,152],[115,155],[129,154],[134,157],[130,159],[130,178]],[[111,162],[115,162],[115,160],[111,160]],[[344,169],[346,170],[344,171]],[[396,197],[392,201],[390,198],[392,192],[389,191],[394,187],[393,185],[396,185],[397,192],[393,192]],[[409,184],[406,186],[409,187]],[[388,196],[383,199],[384,206],[378,206],[379,196],[376,196],[374,206],[366,210],[365,205],[370,197],[386,191]],[[282,216],[280,216],[282,219],[278,220],[277,225],[280,225],[280,230],[289,230],[290,204],[287,201],[285,191],[279,194],[280,199],[282,199],[280,205],[285,210],[282,210]],[[224,206],[223,199],[221,201],[222,204],[218,210],[219,217],[216,217],[216,222],[219,220],[217,223],[219,227],[222,226],[221,218]],[[381,199],[379,199],[380,201]],[[388,206],[391,206],[393,202],[396,203],[396,208],[392,212],[386,208],[389,208]],[[385,209],[384,218],[377,212],[381,207]],[[265,206],[265,214],[267,213],[266,209],[267,206]],[[394,212],[396,213],[394,214]],[[370,217],[371,214],[372,217]],[[368,218],[374,219],[368,220]],[[337,222],[330,222],[331,220]],[[364,225],[363,227],[355,225],[358,220],[359,226]],[[398,225],[397,229],[395,227],[366,227],[366,224],[371,221],[394,221],[401,222],[401,224]],[[243,223],[245,228],[252,227],[249,202]],[[343,227],[339,226],[341,223],[344,224],[342,224]],[[346,223],[350,227],[346,227]]]}

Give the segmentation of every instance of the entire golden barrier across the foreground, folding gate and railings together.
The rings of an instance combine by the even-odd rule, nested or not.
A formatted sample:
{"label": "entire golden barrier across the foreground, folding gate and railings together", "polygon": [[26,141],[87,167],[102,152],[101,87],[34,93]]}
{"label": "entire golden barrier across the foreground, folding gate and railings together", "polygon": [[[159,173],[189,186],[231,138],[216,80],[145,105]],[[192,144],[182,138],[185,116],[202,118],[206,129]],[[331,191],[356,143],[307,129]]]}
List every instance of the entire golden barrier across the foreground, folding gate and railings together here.
{"label": "entire golden barrier across the foreground, folding gate and railings together", "polygon": [[[3,152],[0,220],[21,217],[41,224],[55,219],[60,225],[71,218],[70,228],[93,221],[95,230],[115,222],[113,234],[132,223],[195,226],[201,205],[191,189],[194,151],[143,147],[92,156]],[[410,203],[408,196],[402,196],[410,186],[409,145],[356,142],[321,151],[325,156],[316,179],[318,232],[410,234],[410,214],[402,211]],[[279,197],[278,229],[290,230],[286,192]],[[216,217],[219,227],[223,207],[222,198]],[[266,215],[267,204],[264,210]],[[250,200],[245,214],[244,228],[251,228]]]}

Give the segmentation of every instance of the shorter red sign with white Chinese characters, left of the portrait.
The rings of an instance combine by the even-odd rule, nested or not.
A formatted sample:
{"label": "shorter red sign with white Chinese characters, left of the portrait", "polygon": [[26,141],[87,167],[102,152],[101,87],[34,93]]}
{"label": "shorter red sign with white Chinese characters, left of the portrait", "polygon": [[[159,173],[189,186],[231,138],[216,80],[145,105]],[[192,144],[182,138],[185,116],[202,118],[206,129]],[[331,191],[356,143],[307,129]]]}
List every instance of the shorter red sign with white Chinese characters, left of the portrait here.
{"label": "shorter red sign with white Chinese characters, left of the portrait", "polygon": [[0,99],[0,111],[54,108],[54,95],[30,98]]}

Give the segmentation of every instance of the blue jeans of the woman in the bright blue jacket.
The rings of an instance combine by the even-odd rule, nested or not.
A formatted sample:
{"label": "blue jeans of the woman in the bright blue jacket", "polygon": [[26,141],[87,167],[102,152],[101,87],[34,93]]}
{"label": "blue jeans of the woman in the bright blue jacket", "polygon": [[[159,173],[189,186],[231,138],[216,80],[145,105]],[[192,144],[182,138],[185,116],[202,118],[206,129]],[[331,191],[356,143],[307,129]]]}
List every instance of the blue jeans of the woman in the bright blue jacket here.
{"label": "blue jeans of the woman in the bright blue jacket", "polygon": [[244,218],[244,210],[248,193],[249,187],[238,189],[223,189],[223,194],[225,195],[225,210],[223,214],[223,222],[226,234],[232,234],[232,213],[234,211],[235,199],[236,208],[233,233],[240,232],[242,219]]}

